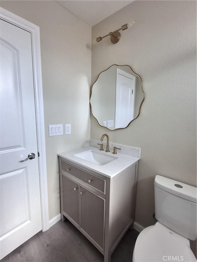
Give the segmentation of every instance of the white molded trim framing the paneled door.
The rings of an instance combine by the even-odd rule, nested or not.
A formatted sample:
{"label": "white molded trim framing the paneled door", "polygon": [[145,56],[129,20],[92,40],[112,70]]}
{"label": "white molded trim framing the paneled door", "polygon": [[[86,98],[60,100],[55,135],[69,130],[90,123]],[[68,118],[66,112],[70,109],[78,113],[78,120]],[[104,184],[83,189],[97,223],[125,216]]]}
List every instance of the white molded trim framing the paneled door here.
{"label": "white molded trim framing the paneled door", "polygon": [[34,94],[35,94],[35,111],[38,151],[40,156],[39,177],[40,177],[40,196],[42,211],[42,231],[49,229],[49,210],[48,210],[48,191],[47,191],[47,174],[46,174],[46,148],[45,148],[45,128],[44,128],[44,107],[42,95],[42,70],[41,70],[41,52],[40,52],[40,28],[37,25],[7,11],[0,9],[0,18],[16,25],[31,33],[32,38],[32,60],[34,71]]}

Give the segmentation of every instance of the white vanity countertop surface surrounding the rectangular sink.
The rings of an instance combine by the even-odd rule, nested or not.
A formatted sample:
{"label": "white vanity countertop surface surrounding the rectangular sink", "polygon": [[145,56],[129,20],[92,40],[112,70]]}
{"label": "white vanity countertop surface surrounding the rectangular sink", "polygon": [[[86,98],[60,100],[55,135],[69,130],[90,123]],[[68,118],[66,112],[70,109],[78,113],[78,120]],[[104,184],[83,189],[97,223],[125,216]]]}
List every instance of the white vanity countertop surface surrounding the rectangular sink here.
{"label": "white vanity countertop surface surrounding the rectangular sink", "polygon": [[[113,156],[116,159],[101,166],[98,164],[91,163],[77,156],[74,156],[74,154],[78,154],[78,153],[88,151],[88,150],[92,150],[92,151],[100,152],[101,154]],[[115,155],[115,154],[112,154],[112,152],[107,153],[105,151],[99,151],[98,147],[92,147],[92,146],[87,146],[87,147],[82,147],[82,148],[62,152],[62,153],[59,153],[58,156],[65,158],[67,160],[70,160],[81,166],[84,166],[108,178],[114,177],[115,175],[119,174],[124,169],[131,166],[132,164],[134,164],[135,162],[137,162],[140,159],[139,157],[135,157],[135,156],[127,155],[127,154],[121,154],[119,152],[117,152],[117,154]]]}

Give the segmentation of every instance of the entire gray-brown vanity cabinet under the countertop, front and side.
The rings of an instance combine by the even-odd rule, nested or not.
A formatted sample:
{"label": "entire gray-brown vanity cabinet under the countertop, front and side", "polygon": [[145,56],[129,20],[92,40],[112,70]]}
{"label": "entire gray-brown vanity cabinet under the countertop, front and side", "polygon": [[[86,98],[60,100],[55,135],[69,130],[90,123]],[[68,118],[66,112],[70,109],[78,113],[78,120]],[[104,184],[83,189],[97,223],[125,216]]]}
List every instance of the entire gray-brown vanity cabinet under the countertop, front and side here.
{"label": "entire gray-brown vanity cabinet under the countertop, front and side", "polygon": [[59,156],[61,220],[67,218],[111,261],[133,228],[138,162],[112,178]]}

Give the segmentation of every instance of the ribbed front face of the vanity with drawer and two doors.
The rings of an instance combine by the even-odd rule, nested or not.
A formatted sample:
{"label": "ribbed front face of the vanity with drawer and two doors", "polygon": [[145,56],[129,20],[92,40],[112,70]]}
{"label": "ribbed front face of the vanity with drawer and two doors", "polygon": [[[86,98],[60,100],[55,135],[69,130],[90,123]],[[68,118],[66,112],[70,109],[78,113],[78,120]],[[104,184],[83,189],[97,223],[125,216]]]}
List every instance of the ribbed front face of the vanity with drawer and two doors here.
{"label": "ribbed front face of the vanity with drawer and two doors", "polygon": [[61,219],[68,218],[103,252],[106,181],[70,163],[60,164]]}

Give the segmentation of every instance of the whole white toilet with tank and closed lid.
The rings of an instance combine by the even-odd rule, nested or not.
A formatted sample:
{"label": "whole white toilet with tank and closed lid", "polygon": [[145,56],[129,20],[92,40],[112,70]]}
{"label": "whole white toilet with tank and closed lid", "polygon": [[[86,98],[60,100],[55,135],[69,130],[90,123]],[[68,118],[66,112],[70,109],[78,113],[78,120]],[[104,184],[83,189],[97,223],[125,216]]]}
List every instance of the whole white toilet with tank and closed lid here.
{"label": "whole white toilet with tank and closed lid", "polygon": [[196,261],[196,187],[156,175],[154,188],[157,222],[139,234],[133,262]]}

